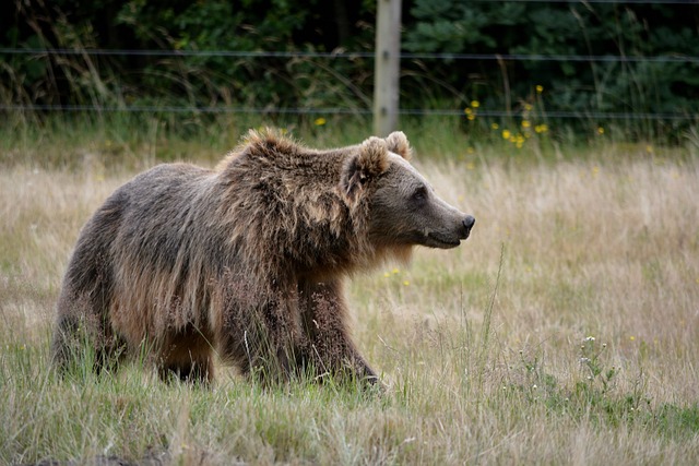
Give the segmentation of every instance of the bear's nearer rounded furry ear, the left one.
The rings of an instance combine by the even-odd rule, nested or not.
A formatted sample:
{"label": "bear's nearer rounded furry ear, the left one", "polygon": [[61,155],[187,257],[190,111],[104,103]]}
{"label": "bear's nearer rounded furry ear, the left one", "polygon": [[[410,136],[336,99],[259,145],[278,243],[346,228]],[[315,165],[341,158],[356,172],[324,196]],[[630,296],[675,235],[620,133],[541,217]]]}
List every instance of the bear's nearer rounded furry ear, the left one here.
{"label": "bear's nearer rounded furry ear, the left one", "polygon": [[359,153],[345,162],[340,178],[340,189],[345,198],[354,202],[366,183],[389,168],[389,150],[386,141],[371,136],[359,145]]}

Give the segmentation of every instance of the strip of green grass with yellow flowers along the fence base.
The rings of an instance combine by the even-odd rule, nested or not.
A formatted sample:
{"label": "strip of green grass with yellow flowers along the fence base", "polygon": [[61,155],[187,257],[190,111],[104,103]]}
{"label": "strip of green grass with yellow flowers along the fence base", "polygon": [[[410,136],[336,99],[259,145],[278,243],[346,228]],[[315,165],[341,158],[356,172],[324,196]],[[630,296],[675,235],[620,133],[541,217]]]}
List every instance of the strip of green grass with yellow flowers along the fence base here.
{"label": "strip of green grass with yellow flowers along the fence base", "polygon": [[[317,118],[321,117],[321,118]],[[322,124],[318,124],[322,122]],[[593,128],[569,134],[565,127],[537,133],[535,122],[497,123],[485,118],[410,117],[401,129],[410,135],[415,152],[431,160],[458,163],[472,175],[476,168],[506,162],[518,168],[532,163],[559,163],[595,158],[653,158],[687,160],[699,155],[699,133],[683,132],[675,145],[653,141],[628,143],[623,132]],[[303,142],[319,147],[356,144],[371,131],[366,116],[179,115],[179,113],[58,113],[38,119],[31,113],[8,115],[0,124],[0,167],[39,166],[84,170],[141,170],[157,162],[197,160],[213,164],[233,148],[248,129],[273,126]],[[505,133],[509,139],[503,138]],[[521,141],[521,143],[520,143]]]}

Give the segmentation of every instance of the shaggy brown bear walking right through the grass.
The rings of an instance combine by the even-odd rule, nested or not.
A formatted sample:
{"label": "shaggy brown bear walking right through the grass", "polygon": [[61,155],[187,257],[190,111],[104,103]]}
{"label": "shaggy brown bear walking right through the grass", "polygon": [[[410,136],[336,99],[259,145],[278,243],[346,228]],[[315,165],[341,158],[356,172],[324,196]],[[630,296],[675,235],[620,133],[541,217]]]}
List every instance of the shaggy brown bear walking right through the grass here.
{"label": "shaggy brown bear walking right through the grass", "polygon": [[214,170],[137,176],[80,234],[54,361],[66,369],[87,344],[97,371],[145,351],[164,379],[208,382],[217,355],[261,380],[310,370],[376,382],[350,338],[343,279],[416,244],[454,248],[475,222],[410,153],[402,132],[317,151],[251,131]]}

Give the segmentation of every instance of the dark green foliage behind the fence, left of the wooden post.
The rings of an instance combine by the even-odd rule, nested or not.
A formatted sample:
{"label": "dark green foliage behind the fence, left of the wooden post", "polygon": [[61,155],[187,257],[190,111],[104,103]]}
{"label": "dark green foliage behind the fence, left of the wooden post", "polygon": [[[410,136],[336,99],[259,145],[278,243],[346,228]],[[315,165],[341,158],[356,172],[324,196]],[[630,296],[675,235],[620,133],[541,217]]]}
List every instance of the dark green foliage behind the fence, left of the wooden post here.
{"label": "dark green foliage behind the fence, left of the wooden post", "polygon": [[[286,0],[82,3],[31,0],[0,20],[0,31],[7,26],[0,47],[76,51],[0,53],[0,64],[8,64],[0,67],[0,103],[263,109],[367,104],[367,60],[187,53],[367,49],[374,41],[370,29],[347,32],[347,24],[354,28],[371,17],[360,2],[311,1],[306,8]],[[185,53],[82,53],[95,48]]]}

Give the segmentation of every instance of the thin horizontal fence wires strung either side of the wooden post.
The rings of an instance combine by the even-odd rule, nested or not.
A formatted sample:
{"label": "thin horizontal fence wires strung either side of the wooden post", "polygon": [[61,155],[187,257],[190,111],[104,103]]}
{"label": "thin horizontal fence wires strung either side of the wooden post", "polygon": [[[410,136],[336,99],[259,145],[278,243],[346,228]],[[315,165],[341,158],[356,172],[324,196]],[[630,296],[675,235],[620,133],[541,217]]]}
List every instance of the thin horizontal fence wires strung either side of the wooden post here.
{"label": "thin horizontal fence wires strung either side of the wooden post", "polygon": [[[496,0],[476,0],[496,1]],[[499,1],[499,0],[497,0]],[[556,2],[557,0],[516,0],[522,2]],[[565,2],[568,0],[560,0]],[[607,0],[588,0],[590,2]],[[617,2],[613,0],[613,2]],[[617,3],[683,3],[699,4],[699,0],[625,0]],[[154,57],[154,58],[238,58],[250,60],[264,59],[330,59],[353,60],[374,59],[375,53],[368,51],[337,50],[332,52],[319,51],[239,51],[239,50],[155,50],[155,49],[90,49],[90,48],[0,48],[0,56],[32,56],[37,60],[48,57]],[[588,62],[588,63],[685,63],[699,64],[699,57],[683,55],[665,56],[625,56],[625,55],[523,55],[523,53],[401,53],[401,60],[425,61],[497,61],[502,62]],[[274,115],[362,115],[372,113],[371,108],[353,107],[251,107],[251,106],[200,106],[200,105],[61,105],[61,104],[0,104],[0,111],[40,111],[40,112],[127,112],[127,113],[274,113]],[[401,108],[400,115],[410,116],[462,116],[463,108]],[[511,110],[479,109],[482,117],[508,118]],[[697,113],[687,112],[605,112],[605,111],[556,111],[546,112],[548,118],[558,119],[594,119],[594,120],[648,120],[648,121],[696,121]]]}

